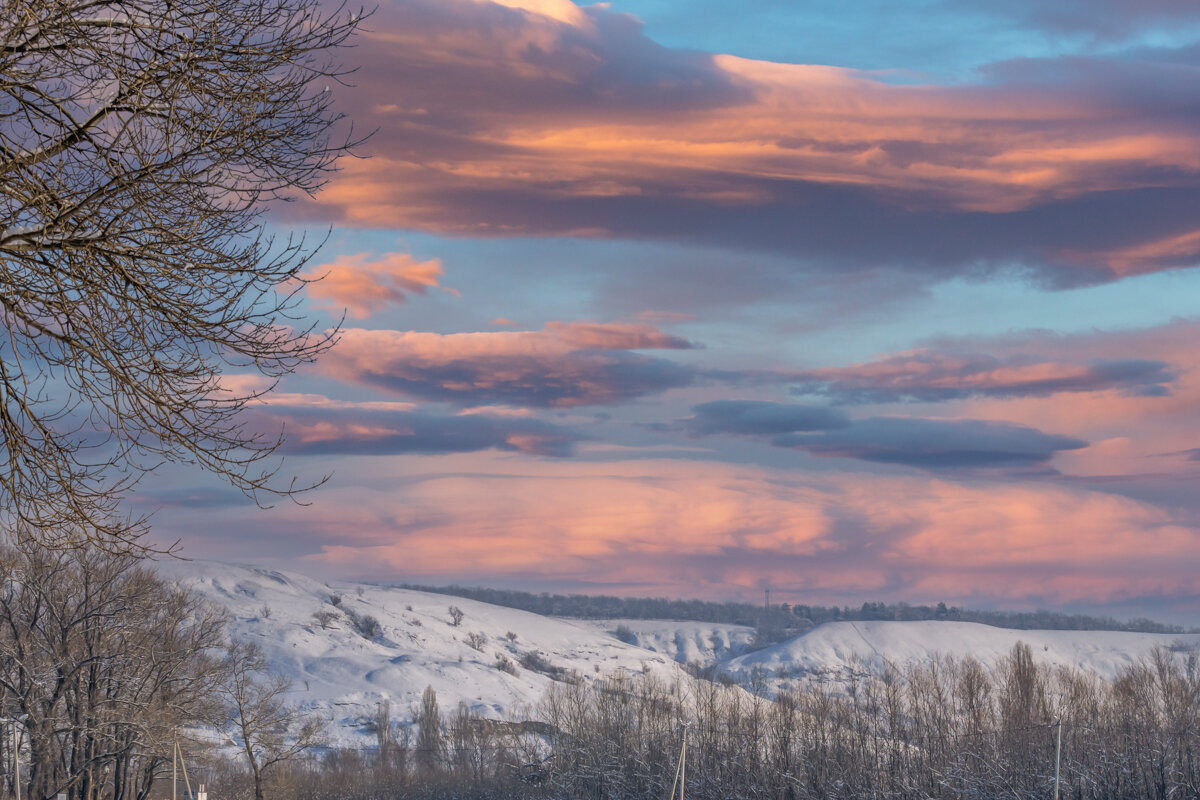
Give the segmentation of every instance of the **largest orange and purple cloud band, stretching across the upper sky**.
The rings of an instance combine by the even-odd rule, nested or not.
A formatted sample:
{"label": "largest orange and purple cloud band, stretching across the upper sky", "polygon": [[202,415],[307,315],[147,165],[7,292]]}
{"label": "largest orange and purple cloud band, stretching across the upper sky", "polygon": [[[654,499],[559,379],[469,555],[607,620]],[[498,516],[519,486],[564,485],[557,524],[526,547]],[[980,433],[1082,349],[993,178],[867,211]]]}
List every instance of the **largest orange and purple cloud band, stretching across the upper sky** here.
{"label": "largest orange and purple cloud band, stretching across the upper sky", "polygon": [[[604,6],[406,0],[359,54],[373,157],[324,213],[466,235],[684,237],[1062,281],[1200,255],[1200,102],[1150,61],[979,85],[672,50]],[[1031,78],[1031,73],[1033,77]],[[1138,91],[1153,85],[1156,92]]]}

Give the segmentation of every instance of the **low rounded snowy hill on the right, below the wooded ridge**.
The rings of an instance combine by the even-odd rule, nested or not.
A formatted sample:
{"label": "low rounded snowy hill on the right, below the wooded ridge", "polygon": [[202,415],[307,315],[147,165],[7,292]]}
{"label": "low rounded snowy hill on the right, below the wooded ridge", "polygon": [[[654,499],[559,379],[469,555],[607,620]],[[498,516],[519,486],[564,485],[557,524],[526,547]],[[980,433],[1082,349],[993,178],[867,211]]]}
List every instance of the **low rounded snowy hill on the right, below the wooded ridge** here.
{"label": "low rounded snowy hill on the right, below the wooded ridge", "polygon": [[743,679],[760,668],[772,675],[836,680],[862,664],[905,666],[938,655],[970,655],[991,667],[1018,642],[1028,644],[1040,663],[1074,666],[1112,678],[1154,646],[1200,646],[1200,634],[1014,631],[977,622],[827,622],[794,639],[731,658],[724,668]]}

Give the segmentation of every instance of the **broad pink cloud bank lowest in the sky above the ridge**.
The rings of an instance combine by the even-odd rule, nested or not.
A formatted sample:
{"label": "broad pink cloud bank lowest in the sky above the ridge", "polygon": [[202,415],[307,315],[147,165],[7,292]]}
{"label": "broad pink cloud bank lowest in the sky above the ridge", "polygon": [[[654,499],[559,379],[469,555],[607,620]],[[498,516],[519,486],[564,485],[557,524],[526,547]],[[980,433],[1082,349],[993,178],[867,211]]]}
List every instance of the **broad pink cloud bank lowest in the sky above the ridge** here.
{"label": "broad pink cloud bank lowest in the sky above the ridge", "polygon": [[359,522],[330,515],[314,561],[373,577],[602,581],[642,595],[751,597],[769,584],[827,602],[1200,591],[1196,530],[1070,487],[798,479],[661,459],[547,467],[455,456],[390,470],[378,491],[338,493]]}

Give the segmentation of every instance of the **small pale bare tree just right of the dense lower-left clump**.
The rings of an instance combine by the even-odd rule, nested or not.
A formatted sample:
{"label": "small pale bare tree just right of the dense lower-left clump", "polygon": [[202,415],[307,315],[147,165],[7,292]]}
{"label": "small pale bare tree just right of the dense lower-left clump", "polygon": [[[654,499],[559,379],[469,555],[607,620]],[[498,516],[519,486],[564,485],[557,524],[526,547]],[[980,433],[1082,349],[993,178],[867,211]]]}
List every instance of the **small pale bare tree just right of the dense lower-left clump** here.
{"label": "small pale bare tree just right of the dense lower-left clump", "polygon": [[289,705],[286,694],[290,688],[292,680],[270,670],[257,644],[229,645],[221,687],[227,700],[224,721],[246,756],[254,781],[254,800],[266,796],[266,778],[272,768],[320,741],[324,721]]}

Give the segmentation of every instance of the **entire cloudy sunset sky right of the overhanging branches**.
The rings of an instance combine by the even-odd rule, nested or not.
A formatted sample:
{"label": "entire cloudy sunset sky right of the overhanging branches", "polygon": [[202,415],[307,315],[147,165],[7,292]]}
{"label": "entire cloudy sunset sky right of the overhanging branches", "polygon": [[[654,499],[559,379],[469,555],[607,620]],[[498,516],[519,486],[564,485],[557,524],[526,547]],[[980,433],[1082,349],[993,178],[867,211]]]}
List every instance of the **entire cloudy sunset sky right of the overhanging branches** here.
{"label": "entire cloudy sunset sky right of the overhanging branches", "polygon": [[[372,581],[1200,625],[1194,0],[382,0],[340,341],[185,554]],[[230,386],[256,386],[230,375]]]}

